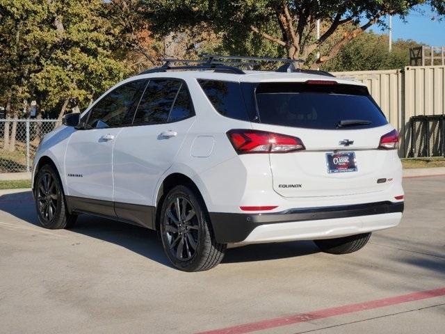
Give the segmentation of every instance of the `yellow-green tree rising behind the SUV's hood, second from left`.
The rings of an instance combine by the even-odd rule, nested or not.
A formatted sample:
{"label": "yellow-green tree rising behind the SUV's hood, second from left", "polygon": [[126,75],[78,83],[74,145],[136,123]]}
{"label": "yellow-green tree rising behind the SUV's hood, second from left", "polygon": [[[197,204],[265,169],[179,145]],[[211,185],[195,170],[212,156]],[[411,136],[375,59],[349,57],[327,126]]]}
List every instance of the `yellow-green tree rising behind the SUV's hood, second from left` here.
{"label": "yellow-green tree rising behind the SUV's hood, second from left", "polygon": [[128,74],[122,35],[107,19],[104,1],[49,1],[47,15],[55,34],[51,56],[41,59],[41,70],[32,76],[44,96],[42,106],[84,107]]}

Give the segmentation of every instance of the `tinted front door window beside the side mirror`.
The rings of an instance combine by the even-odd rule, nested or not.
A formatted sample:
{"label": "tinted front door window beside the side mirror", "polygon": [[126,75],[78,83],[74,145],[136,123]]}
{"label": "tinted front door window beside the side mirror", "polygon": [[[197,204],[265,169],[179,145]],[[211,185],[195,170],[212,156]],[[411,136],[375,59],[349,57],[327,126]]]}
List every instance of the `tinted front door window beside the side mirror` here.
{"label": "tinted front door window beside the side mirror", "polygon": [[131,124],[131,119],[126,116],[133,103],[138,100],[144,82],[146,81],[131,81],[104,96],[92,107],[87,128],[120,127]]}

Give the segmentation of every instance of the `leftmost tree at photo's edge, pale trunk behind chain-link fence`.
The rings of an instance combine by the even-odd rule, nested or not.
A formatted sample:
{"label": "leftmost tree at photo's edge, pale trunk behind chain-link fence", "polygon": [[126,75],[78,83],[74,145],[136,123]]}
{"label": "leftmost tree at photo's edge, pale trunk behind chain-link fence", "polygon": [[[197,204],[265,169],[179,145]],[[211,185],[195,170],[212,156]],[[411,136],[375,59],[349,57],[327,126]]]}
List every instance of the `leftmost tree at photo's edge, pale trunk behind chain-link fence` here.
{"label": "leftmost tree at photo's edge, pale trunk behind chain-link fence", "polygon": [[[23,109],[23,101],[31,94],[31,73],[38,70],[36,61],[41,50],[51,40],[44,33],[44,8],[37,1],[0,0],[0,88],[6,118],[16,119]],[[3,149],[15,149],[17,122],[6,122],[3,132]]]}

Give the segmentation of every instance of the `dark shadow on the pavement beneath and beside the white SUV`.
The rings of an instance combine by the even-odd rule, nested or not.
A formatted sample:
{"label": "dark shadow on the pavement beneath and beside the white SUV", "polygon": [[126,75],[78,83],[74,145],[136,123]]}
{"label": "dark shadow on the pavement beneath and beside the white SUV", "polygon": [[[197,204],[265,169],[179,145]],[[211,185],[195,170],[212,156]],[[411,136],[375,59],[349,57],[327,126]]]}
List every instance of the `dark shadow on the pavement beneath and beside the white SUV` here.
{"label": "dark shadow on the pavement beneath and beside the white SUV", "polygon": [[[21,191],[0,196],[0,211],[8,212],[22,221],[40,228],[31,191]],[[111,219],[81,214],[70,231],[107,241],[151,260],[172,267],[164,254],[157,233],[137,225]],[[318,253],[312,241],[294,241],[278,244],[255,244],[229,248],[223,263],[255,262]]]}

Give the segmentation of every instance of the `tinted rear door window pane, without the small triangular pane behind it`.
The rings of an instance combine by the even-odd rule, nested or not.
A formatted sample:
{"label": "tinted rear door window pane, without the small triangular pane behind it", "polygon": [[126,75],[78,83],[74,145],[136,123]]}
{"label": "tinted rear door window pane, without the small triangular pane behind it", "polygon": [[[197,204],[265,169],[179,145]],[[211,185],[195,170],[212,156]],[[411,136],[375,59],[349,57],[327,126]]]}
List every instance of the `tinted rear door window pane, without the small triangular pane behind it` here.
{"label": "tinted rear door window pane, without the small triangular pane behind it", "polygon": [[140,99],[133,125],[168,122],[168,114],[180,87],[181,81],[177,80],[150,80],[142,99]]}

